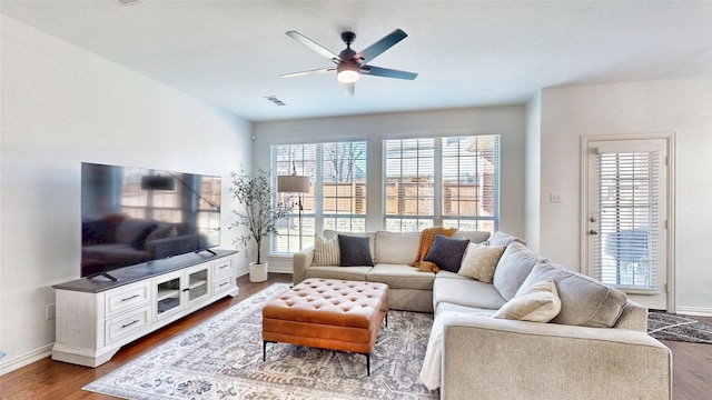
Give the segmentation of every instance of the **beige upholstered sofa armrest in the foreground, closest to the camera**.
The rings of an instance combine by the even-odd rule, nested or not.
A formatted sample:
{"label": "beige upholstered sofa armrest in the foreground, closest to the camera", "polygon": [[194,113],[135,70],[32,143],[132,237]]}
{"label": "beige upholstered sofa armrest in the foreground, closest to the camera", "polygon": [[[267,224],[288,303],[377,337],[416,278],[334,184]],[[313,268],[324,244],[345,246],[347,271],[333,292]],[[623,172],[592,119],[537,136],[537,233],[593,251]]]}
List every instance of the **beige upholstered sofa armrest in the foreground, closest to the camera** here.
{"label": "beige upholstered sofa armrest in the foreground, closest to the camera", "polygon": [[672,352],[644,332],[443,316],[442,399],[672,399]]}

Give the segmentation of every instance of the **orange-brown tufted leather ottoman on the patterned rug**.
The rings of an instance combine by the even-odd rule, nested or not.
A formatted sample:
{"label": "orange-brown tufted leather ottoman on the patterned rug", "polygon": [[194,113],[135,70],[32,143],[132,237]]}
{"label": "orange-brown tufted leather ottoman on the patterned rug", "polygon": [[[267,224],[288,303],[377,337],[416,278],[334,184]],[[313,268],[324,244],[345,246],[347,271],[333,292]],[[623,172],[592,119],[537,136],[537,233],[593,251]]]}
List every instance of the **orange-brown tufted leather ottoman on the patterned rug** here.
{"label": "orange-brown tufted leather ottoman on the patterned rug", "polygon": [[384,318],[388,286],[335,279],[307,279],[263,308],[263,360],[267,343],[285,342],[366,356]]}

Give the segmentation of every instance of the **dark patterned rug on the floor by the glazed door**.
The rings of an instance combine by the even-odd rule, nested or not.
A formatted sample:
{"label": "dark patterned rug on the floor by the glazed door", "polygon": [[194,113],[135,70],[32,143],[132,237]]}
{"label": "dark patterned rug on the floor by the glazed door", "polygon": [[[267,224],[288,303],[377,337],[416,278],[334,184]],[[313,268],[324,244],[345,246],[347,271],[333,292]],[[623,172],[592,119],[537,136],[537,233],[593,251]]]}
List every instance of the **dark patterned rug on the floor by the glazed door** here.
{"label": "dark patterned rug on the floor by the glazed door", "polygon": [[712,326],[689,316],[651,311],[647,334],[655,339],[712,344]]}

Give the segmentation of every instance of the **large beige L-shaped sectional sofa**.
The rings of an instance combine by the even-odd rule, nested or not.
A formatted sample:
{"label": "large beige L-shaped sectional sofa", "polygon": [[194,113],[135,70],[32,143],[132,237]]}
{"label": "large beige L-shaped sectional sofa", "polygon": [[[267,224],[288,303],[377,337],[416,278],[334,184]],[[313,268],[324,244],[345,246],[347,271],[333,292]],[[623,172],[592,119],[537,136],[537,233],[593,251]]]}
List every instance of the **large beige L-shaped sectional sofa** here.
{"label": "large beige L-shaped sectional sofa", "polygon": [[[672,353],[646,334],[647,310],[621,291],[554,264],[504,232],[455,233],[506,247],[492,282],[409,267],[419,232],[359,236],[368,238],[374,266],[313,266],[310,247],[294,256],[294,282],[383,282],[392,309],[434,312],[421,380],[439,387],[441,398],[672,399]],[[561,299],[550,323],[493,318],[517,292],[547,279]]]}

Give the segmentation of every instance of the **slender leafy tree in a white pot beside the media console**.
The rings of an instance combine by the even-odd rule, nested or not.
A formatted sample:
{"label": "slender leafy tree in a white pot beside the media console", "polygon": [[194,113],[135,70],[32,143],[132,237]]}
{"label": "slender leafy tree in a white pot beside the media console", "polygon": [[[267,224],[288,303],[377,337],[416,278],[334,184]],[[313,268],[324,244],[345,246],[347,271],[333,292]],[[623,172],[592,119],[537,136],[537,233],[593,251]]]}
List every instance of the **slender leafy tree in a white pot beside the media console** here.
{"label": "slender leafy tree in a white pot beside the media console", "polygon": [[229,229],[247,227],[248,233],[239,234],[234,243],[247,248],[255,240],[257,243],[257,261],[250,262],[249,278],[253,282],[267,280],[267,262],[261,259],[263,238],[269,233],[277,233],[276,223],[285,218],[287,209],[280,203],[273,202],[273,187],[269,184],[269,174],[259,170],[256,174],[245,172],[231,172],[230,193],[243,204],[243,210],[234,210],[237,220]]}

